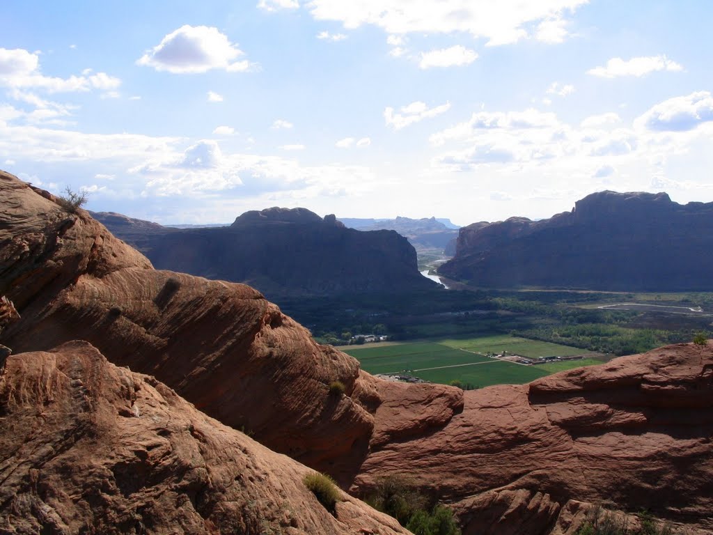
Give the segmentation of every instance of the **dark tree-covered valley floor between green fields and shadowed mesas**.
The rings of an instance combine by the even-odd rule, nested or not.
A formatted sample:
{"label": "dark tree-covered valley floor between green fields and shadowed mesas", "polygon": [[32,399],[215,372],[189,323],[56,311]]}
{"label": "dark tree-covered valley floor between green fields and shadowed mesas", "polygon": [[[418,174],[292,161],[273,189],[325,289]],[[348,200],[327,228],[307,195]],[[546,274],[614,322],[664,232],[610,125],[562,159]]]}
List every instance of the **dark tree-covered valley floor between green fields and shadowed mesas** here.
{"label": "dark tree-covered valley floor between green fields and shadowed mesas", "polygon": [[[598,308],[619,302],[700,306],[699,315]],[[634,294],[580,291],[434,290],[402,295],[302,297],[282,310],[323,343],[354,335],[389,340],[510,334],[584,350],[632,355],[661,345],[713,338],[712,293]]]}

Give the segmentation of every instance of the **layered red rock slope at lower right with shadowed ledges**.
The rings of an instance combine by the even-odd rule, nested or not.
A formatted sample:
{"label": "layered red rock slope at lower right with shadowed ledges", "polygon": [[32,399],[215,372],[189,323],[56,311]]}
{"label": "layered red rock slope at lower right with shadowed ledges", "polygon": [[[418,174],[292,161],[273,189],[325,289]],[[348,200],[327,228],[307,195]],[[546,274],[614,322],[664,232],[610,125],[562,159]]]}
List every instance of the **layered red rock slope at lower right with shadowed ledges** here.
{"label": "layered red rock slope at lower right with shadowed ledges", "polygon": [[[375,417],[387,434],[414,416],[384,403]],[[352,491],[408,474],[453,506],[466,535],[569,532],[560,516],[573,516],[571,500],[583,502],[576,510],[645,509],[707,533],[712,437],[713,348],[674,345],[465,392],[463,412],[441,429],[372,448]]]}

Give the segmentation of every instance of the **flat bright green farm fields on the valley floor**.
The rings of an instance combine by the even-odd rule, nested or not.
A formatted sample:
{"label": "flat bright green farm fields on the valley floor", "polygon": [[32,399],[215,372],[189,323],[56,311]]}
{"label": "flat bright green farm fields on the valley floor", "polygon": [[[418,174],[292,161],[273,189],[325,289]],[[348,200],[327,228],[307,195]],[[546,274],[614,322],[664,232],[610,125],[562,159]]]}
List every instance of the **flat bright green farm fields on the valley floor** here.
{"label": "flat bright green farm fields on the valley floor", "polygon": [[359,360],[361,368],[369,373],[408,372],[409,375],[430,382],[448,384],[459,380],[478,388],[492,384],[523,384],[551,373],[602,362],[595,358],[585,358],[525,366],[478,355],[478,353],[506,351],[523,357],[538,358],[589,353],[577,347],[508,335],[451,338],[438,340],[438,343],[393,343],[380,347],[349,346],[341,349]]}

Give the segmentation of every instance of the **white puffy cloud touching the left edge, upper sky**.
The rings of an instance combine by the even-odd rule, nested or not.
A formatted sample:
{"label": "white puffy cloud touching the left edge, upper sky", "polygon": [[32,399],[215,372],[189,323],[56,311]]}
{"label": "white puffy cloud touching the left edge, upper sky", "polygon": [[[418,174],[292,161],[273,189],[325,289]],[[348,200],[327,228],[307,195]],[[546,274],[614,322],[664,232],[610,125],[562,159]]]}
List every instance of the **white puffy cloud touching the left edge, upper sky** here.
{"label": "white puffy cloud touching the left edge, upper sky", "polygon": [[72,75],[69,78],[44,76],[40,72],[38,54],[24,49],[0,49],[0,86],[61,93],[116,89],[121,84],[119,78],[109,76],[107,73],[87,76],[89,73],[91,69],[85,69],[82,76]]}

